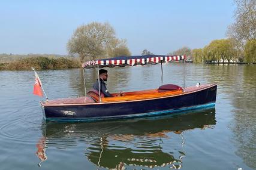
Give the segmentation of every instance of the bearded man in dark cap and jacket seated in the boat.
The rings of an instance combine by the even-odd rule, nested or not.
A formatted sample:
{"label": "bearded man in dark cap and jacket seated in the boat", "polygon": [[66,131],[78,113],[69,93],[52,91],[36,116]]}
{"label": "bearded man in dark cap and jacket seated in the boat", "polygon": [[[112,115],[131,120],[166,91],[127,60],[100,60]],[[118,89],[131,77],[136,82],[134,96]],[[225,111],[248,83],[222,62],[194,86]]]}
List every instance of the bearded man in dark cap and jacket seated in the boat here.
{"label": "bearded man in dark cap and jacket seated in the boat", "polygon": [[[100,75],[100,89],[101,92],[104,94],[105,97],[113,97],[109,91],[107,91],[107,87],[104,81],[107,81],[108,75],[107,75],[107,70],[100,69],[99,70],[99,75]],[[99,91],[99,82],[98,79],[92,86],[93,89]]]}

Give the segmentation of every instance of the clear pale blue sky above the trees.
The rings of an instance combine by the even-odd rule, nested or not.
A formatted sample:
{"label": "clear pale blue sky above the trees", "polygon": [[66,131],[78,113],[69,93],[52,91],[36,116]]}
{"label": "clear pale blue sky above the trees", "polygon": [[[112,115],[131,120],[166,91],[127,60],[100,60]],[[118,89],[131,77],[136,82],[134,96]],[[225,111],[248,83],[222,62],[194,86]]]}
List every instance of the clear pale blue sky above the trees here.
{"label": "clear pale blue sky above the trees", "polygon": [[108,22],[132,55],[166,55],[226,38],[233,0],[1,0],[0,54],[68,54],[77,27]]}

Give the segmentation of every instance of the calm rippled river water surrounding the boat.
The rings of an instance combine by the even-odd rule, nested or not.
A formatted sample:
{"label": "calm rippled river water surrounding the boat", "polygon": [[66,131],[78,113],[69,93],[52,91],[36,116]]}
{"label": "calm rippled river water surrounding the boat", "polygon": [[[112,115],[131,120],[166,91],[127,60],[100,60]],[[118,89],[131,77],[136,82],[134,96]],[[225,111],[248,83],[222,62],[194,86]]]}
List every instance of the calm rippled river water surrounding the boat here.
{"label": "calm rippled river water surrounding the boat", "polygon": [[[183,86],[181,63],[164,84]],[[109,70],[110,92],[157,88],[161,66]],[[256,169],[256,66],[186,64],[186,85],[218,83],[216,106],[182,115],[45,122],[32,71],[0,72],[0,169]],[[83,72],[38,71],[50,99],[84,95]],[[97,78],[86,70],[86,86]]]}

